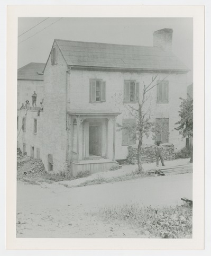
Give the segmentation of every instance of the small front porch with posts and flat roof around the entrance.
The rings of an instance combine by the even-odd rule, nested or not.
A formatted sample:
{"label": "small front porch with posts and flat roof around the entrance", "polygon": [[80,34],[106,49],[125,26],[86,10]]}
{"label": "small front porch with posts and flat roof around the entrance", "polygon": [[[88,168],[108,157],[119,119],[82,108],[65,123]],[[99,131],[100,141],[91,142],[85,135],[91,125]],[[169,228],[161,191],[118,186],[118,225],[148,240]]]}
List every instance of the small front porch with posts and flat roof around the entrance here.
{"label": "small front porch with posts and flat roof around the entrance", "polygon": [[116,117],[112,111],[71,111],[69,156],[73,175],[96,173],[118,166],[115,161]]}

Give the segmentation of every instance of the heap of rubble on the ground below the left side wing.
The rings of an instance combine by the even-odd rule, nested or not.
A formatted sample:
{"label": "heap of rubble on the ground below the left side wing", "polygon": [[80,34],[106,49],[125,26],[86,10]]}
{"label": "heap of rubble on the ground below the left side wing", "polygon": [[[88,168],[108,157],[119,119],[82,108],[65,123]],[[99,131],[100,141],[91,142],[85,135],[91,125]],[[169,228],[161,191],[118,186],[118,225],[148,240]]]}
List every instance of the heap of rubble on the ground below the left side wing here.
{"label": "heap of rubble on the ground below the left side wing", "polygon": [[33,159],[29,156],[23,156],[17,158],[17,179],[24,178],[36,178],[42,174],[47,173],[45,171],[44,164],[41,159]]}

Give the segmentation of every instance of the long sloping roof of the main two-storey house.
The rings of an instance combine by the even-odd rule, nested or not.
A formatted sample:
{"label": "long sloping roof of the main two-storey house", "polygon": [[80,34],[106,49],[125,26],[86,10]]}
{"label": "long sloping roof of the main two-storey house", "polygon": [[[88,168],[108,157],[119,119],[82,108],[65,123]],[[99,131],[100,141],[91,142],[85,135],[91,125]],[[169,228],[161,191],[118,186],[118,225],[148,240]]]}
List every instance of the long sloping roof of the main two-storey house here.
{"label": "long sloping roof of the main two-storey house", "polygon": [[158,47],[55,41],[70,66],[189,71],[172,52]]}

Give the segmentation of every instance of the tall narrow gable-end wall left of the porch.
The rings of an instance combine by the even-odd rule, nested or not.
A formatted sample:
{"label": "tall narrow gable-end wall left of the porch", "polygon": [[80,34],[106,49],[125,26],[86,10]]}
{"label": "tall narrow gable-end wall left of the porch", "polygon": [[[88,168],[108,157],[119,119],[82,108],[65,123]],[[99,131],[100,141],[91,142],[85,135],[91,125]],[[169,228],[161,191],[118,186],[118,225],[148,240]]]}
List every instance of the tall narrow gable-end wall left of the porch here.
{"label": "tall narrow gable-end wall left of the porch", "polygon": [[51,57],[44,70],[43,110],[43,162],[48,170],[48,155],[53,157],[53,172],[67,170],[66,130],[66,71],[67,65],[60,51],[57,63],[51,65]]}

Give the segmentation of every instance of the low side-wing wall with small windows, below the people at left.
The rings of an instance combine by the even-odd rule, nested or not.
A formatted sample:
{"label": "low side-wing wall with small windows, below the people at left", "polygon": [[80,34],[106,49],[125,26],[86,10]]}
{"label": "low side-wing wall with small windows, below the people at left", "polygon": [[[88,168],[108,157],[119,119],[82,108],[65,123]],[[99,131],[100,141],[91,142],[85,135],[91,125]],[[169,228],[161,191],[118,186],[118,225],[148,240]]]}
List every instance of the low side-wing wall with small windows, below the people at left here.
{"label": "low side-wing wall with small windows, below the people at left", "polygon": [[[17,124],[17,143],[18,147],[23,153],[23,143],[26,146],[27,155],[31,156],[31,147],[34,147],[34,158],[38,158],[36,155],[36,149],[40,149],[40,158],[43,156],[43,112],[17,110],[18,124]],[[22,130],[22,119],[26,119],[26,129]],[[34,133],[34,119],[37,121],[37,131]]]}

